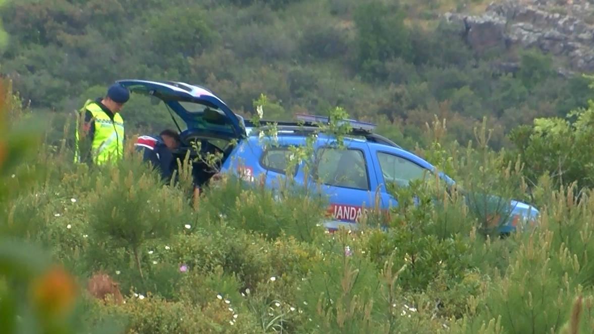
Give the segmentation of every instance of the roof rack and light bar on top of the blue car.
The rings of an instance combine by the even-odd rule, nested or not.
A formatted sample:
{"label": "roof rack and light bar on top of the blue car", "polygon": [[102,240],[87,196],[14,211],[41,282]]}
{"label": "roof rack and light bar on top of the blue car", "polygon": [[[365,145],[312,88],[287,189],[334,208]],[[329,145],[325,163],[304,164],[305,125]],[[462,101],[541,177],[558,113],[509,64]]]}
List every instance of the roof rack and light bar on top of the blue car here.
{"label": "roof rack and light bar on top of the blue car", "polygon": [[[266,119],[261,119],[258,123],[258,126],[262,129],[269,128],[268,124],[275,124],[276,129],[279,133],[283,134],[295,134],[295,135],[302,135],[302,134],[309,134],[315,132],[320,129],[320,123],[328,124],[328,117],[326,116],[316,116],[316,115],[307,115],[307,114],[296,114],[299,122],[295,121],[271,121]],[[402,147],[393,141],[389,140],[388,138],[381,136],[380,134],[373,133],[372,131],[375,129],[376,125],[369,122],[361,122],[356,121],[354,119],[345,119],[346,122],[351,124],[352,129],[349,131],[350,136],[361,136],[365,137],[365,140],[371,143],[378,143],[384,144],[387,146],[397,147],[402,149]],[[257,126],[254,124],[253,121],[249,119],[245,119],[245,126],[246,127],[255,127]]]}

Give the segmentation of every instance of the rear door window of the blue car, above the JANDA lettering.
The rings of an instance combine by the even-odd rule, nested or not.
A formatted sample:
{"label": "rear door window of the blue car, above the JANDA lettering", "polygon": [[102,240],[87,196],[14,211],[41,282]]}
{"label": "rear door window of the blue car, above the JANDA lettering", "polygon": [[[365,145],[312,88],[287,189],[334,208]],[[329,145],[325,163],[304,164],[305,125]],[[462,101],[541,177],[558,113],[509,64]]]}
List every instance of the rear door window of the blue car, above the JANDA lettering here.
{"label": "rear door window of the blue car, above the JANDA lettering", "polygon": [[365,155],[358,149],[323,147],[316,152],[317,168],[312,176],[334,187],[369,190]]}

